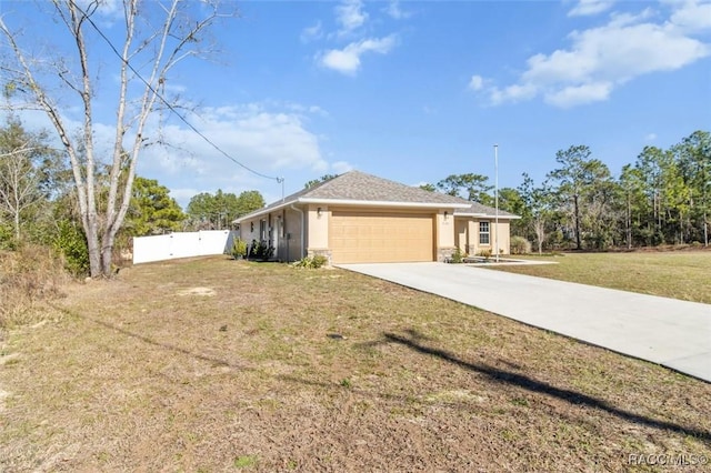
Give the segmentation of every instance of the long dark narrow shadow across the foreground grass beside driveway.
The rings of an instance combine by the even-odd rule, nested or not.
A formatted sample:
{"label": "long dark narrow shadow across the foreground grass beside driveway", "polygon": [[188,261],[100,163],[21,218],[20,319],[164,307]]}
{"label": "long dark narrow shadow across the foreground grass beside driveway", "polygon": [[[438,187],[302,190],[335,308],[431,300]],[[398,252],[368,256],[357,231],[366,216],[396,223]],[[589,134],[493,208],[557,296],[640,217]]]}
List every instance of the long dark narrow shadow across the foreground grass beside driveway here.
{"label": "long dark narrow shadow across the foreground grass beside driveway", "polygon": [[384,343],[398,343],[415,352],[437,356],[441,360],[444,360],[464,370],[484,374],[489,376],[493,382],[497,382],[497,383],[511,384],[511,385],[524,389],[527,391],[545,394],[551,397],[557,397],[562,401],[569,402],[571,404],[599,409],[601,411],[608,412],[622,420],[625,420],[628,422],[633,422],[635,424],[647,425],[653,429],[669,430],[683,435],[694,436],[704,442],[711,442],[711,432],[705,432],[697,429],[688,429],[671,422],[645,417],[643,415],[615,407],[614,405],[611,405],[610,403],[603,400],[592,397],[575,391],[555,388],[548,383],[534,380],[523,374],[499,370],[497,368],[489,366],[483,363],[470,363],[454,356],[452,353],[448,351],[423,345],[421,341],[427,339],[414,330],[408,330],[405,331],[405,333],[409,336],[402,336],[395,333],[385,332],[383,333]]}

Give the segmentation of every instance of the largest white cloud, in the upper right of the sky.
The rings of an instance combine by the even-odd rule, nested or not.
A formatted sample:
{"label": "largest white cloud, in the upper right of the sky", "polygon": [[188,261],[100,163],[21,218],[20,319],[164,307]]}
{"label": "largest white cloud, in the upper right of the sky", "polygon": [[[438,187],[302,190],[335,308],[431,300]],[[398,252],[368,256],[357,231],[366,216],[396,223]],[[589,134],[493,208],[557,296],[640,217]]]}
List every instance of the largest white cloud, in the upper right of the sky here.
{"label": "largest white cloud, in the upper right of the sky", "polygon": [[485,87],[474,76],[470,88],[484,92],[493,104],[539,95],[561,108],[607,100],[615,88],[639,76],[678,70],[711,54],[711,46],[687,33],[711,30],[711,20],[691,20],[690,12],[703,6],[674,7],[660,23],[649,21],[649,9],[637,16],[612,14],[602,27],[571,32],[570,48],[529,58],[517,83]]}

